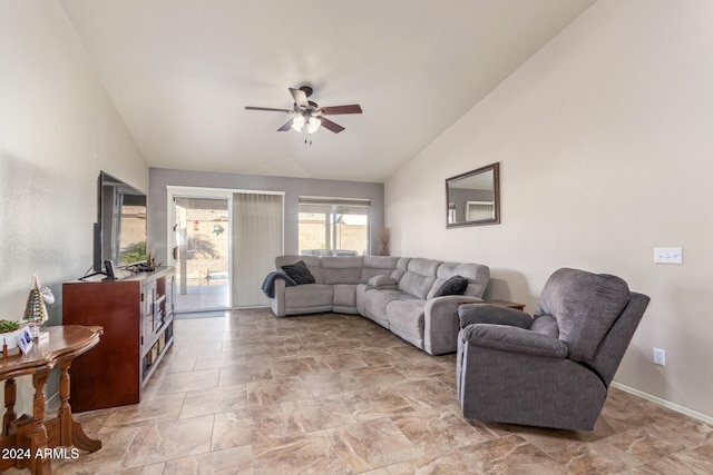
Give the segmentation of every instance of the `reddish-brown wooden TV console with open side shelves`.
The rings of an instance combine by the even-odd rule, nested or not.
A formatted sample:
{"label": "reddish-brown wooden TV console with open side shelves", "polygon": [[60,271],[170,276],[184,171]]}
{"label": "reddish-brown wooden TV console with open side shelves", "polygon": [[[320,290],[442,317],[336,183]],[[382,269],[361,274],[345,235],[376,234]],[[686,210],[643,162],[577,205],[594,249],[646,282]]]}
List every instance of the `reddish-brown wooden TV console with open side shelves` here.
{"label": "reddish-brown wooden TV console with open side shelves", "polygon": [[139,403],[143,387],[173,344],[173,267],[136,274],[119,269],[116,280],[102,278],[62,286],[62,324],[104,327],[96,348],[71,367],[76,413]]}

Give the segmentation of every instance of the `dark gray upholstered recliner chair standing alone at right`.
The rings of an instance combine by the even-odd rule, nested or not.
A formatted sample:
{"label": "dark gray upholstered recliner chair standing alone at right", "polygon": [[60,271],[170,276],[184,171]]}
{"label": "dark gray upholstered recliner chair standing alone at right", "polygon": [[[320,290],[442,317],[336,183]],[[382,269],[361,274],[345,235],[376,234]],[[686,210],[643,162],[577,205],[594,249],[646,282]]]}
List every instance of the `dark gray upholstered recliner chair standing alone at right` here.
{"label": "dark gray upholstered recliner chair standing alone at right", "polygon": [[615,276],[563,268],[533,318],[459,309],[458,398],[471,419],[592,431],[649,298]]}

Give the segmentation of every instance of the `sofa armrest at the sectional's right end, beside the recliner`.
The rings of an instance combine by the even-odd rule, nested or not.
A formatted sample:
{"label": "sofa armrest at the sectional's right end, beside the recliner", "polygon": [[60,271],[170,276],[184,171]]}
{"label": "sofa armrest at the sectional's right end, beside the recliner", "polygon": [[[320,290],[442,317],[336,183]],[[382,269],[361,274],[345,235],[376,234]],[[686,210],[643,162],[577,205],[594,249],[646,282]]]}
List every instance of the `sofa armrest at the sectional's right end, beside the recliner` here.
{"label": "sofa armrest at the sectional's right end, beside the recliner", "polygon": [[446,295],[426,301],[423,308],[423,349],[429,355],[445,355],[458,349],[458,307],[463,303],[479,303],[481,298]]}

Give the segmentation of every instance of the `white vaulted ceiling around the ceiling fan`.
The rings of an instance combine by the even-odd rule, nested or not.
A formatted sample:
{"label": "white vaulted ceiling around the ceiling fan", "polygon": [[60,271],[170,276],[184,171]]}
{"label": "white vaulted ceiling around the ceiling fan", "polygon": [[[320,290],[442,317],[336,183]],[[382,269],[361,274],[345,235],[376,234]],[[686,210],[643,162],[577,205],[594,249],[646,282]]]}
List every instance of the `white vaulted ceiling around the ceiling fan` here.
{"label": "white vaulted ceiling around the ceiling fan", "polygon": [[[594,0],[60,0],[152,167],[384,181]],[[277,131],[309,85],[345,128]]]}

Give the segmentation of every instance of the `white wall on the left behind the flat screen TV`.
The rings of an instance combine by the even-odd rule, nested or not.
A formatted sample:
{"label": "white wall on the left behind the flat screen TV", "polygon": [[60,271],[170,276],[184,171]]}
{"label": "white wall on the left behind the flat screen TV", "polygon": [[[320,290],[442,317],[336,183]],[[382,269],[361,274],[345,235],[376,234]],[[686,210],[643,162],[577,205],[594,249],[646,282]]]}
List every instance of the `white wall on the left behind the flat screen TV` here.
{"label": "white wall on the left behind the flat screen TV", "polygon": [[148,167],[58,1],[0,2],[0,318],[22,317],[37,273],[59,324],[61,283],[91,266],[99,171],[147,191]]}

